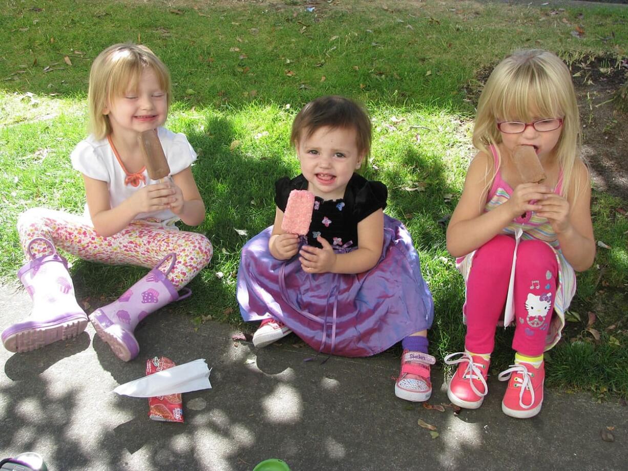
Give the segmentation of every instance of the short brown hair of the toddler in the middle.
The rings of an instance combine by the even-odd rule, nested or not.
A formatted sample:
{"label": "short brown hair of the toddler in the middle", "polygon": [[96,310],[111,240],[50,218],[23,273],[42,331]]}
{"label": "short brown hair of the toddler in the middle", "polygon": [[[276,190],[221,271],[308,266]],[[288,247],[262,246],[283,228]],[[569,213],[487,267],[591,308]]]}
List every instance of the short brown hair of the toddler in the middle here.
{"label": "short brown hair of the toddler in the middle", "polygon": [[306,104],[292,123],[290,143],[296,146],[301,133],[309,138],[320,127],[355,129],[355,144],[360,154],[371,151],[371,118],[366,109],[345,97],[328,95]]}

